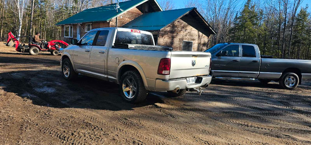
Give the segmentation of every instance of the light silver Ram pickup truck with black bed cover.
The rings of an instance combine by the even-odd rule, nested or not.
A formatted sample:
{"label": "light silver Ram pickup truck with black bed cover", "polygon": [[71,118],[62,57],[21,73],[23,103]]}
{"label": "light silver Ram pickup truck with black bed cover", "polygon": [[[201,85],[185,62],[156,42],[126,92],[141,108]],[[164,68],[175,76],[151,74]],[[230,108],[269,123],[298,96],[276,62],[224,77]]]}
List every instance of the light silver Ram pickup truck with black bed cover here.
{"label": "light silver Ram pickup truck with black bed cover", "polygon": [[175,52],[155,46],[150,32],[125,28],[89,31],[62,51],[63,77],[83,74],[120,84],[122,97],[145,100],[148,91],[179,96],[210,83],[210,53]]}

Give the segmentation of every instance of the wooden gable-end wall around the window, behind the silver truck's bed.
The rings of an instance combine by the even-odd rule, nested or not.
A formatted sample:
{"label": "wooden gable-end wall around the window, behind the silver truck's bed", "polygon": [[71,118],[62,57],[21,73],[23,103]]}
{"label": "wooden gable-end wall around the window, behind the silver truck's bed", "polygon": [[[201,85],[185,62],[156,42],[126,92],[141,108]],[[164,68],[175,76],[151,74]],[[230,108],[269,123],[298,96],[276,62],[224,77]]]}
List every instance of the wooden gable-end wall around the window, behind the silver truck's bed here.
{"label": "wooden gable-end wall around the window, behind the silver truck's bed", "polygon": [[182,51],[183,41],[192,41],[192,51],[203,51],[208,48],[209,38],[210,36],[204,35],[187,22],[178,19],[160,31],[158,45]]}

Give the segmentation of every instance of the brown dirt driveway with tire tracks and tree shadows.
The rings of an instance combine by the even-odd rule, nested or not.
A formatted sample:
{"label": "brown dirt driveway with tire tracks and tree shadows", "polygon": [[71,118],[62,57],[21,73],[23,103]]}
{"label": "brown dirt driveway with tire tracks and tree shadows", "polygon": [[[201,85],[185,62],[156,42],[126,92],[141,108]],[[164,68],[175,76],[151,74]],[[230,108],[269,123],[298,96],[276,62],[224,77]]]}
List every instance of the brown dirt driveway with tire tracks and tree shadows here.
{"label": "brown dirt driveway with tire tracks and tree shadows", "polygon": [[60,56],[0,44],[0,144],[311,144],[311,81],[213,81],[201,96],[150,93],[122,101],[117,85],[62,78]]}

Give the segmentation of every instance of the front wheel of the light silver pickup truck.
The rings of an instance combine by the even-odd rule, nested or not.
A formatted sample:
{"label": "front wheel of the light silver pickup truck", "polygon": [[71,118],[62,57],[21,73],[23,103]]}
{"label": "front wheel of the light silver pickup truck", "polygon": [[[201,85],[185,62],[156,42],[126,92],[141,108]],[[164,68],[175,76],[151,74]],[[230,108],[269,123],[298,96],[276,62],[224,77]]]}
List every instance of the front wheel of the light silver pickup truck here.
{"label": "front wheel of the light silver pickup truck", "polygon": [[62,61],[62,74],[63,74],[63,77],[68,81],[78,78],[78,73],[74,72],[69,58],[65,58]]}

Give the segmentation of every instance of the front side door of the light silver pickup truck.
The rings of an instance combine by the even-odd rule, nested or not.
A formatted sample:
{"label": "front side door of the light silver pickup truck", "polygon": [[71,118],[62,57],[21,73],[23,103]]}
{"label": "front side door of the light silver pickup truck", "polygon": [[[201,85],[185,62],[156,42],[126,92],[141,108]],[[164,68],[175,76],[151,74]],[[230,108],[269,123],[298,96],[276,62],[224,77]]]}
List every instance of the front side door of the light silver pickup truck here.
{"label": "front side door of the light silver pickup truck", "polygon": [[73,62],[77,70],[89,71],[89,57],[93,47],[93,41],[98,31],[92,31],[84,36],[73,51]]}

